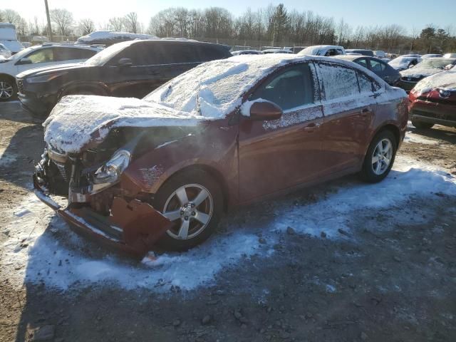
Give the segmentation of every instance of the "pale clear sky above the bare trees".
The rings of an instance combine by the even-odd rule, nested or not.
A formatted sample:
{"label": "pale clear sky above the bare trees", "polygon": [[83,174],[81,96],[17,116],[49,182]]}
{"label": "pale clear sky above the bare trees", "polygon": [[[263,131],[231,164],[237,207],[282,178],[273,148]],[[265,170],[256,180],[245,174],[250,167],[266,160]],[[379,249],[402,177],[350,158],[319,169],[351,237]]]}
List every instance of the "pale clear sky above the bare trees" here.
{"label": "pale clear sky above the bare trees", "polygon": [[[440,0],[432,4],[429,0],[290,0],[290,1],[259,1],[259,0],[48,0],[49,8],[65,8],[73,12],[75,19],[91,18],[95,24],[103,24],[113,16],[123,16],[128,12],[138,13],[142,24],[147,27],[150,17],[168,7],[185,7],[187,9],[204,9],[219,6],[229,10],[235,16],[242,14],[247,7],[258,9],[269,4],[282,2],[291,11],[314,11],[321,16],[333,17],[336,21],[343,18],[353,27],[358,25],[376,26],[400,24],[409,31],[420,30],[427,24],[445,28],[456,26],[456,0]],[[0,9],[14,9],[27,20],[45,19],[44,0],[2,1]]]}

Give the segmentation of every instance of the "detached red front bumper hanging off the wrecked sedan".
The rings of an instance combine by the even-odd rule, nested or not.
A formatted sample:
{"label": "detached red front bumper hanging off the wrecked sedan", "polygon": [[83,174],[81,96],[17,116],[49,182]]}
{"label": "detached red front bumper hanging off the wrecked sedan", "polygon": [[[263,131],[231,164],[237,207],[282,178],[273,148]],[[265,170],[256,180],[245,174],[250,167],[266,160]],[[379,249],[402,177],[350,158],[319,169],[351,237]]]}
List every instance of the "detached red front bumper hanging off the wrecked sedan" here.
{"label": "detached red front bumper hanging off the wrecked sedan", "polygon": [[72,204],[61,207],[48,195],[48,190],[36,174],[33,175],[33,187],[36,197],[65,219],[74,232],[138,259],[144,257],[172,226],[172,222],[160,212],[148,204],[138,204],[139,201],[127,203],[123,199],[115,199],[112,216],[100,219],[100,215],[89,207],[78,208]]}

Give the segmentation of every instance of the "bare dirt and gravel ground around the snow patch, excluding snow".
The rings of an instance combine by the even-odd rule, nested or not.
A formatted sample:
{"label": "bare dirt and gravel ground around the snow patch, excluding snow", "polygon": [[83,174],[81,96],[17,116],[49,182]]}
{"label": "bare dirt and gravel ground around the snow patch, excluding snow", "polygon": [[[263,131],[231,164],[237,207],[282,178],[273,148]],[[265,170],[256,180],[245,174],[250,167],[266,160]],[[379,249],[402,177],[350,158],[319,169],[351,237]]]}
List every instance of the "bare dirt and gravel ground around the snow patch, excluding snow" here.
{"label": "bare dirt and gravel ground around the snow patch, excluding snow", "polygon": [[[41,123],[18,103],[0,103],[0,246],[11,239],[11,213],[31,194],[42,135]],[[439,167],[451,177],[455,144],[454,129],[410,128],[398,159]],[[276,206],[318,204],[357,182],[346,177],[274,205],[239,209],[213,239],[225,239],[234,222],[261,226],[274,217]],[[385,191],[381,185],[369,189],[379,195]],[[456,341],[455,218],[455,195],[410,192],[388,206],[355,210],[343,229],[335,227],[340,236],[334,238],[323,231],[301,234],[294,227],[271,235],[255,231],[261,244],[274,241],[271,257],[240,256],[190,291],[110,282],[59,288],[24,281],[17,286],[15,269],[4,271],[0,341]],[[43,234],[64,240],[48,233],[53,222]],[[92,246],[88,242],[89,257]],[[5,250],[0,258],[6,258]]]}

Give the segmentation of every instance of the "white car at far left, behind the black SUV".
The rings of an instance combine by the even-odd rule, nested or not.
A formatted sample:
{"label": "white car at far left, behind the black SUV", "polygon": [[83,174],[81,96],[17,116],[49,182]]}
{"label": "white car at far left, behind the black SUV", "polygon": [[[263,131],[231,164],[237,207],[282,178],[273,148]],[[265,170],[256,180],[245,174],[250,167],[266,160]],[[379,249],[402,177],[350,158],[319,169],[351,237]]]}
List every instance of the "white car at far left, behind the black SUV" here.
{"label": "white car at far left, behind the black SUV", "polygon": [[46,43],[25,48],[9,58],[0,59],[0,102],[16,96],[16,75],[22,71],[81,63],[101,50],[99,46]]}

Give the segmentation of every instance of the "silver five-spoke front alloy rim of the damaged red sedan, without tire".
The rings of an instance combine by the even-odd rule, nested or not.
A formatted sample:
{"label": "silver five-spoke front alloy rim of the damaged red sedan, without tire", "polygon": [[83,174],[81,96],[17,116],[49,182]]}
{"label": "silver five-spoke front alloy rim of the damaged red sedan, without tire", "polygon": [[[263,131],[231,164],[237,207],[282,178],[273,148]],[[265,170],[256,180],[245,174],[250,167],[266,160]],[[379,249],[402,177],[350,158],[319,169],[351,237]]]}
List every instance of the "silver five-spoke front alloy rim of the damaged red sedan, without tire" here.
{"label": "silver five-spoke front alloy rim of the damaged red sedan, without tire", "polygon": [[174,239],[192,239],[209,224],[214,211],[214,200],[199,184],[183,185],[165,202],[162,214],[174,222],[167,234]]}

